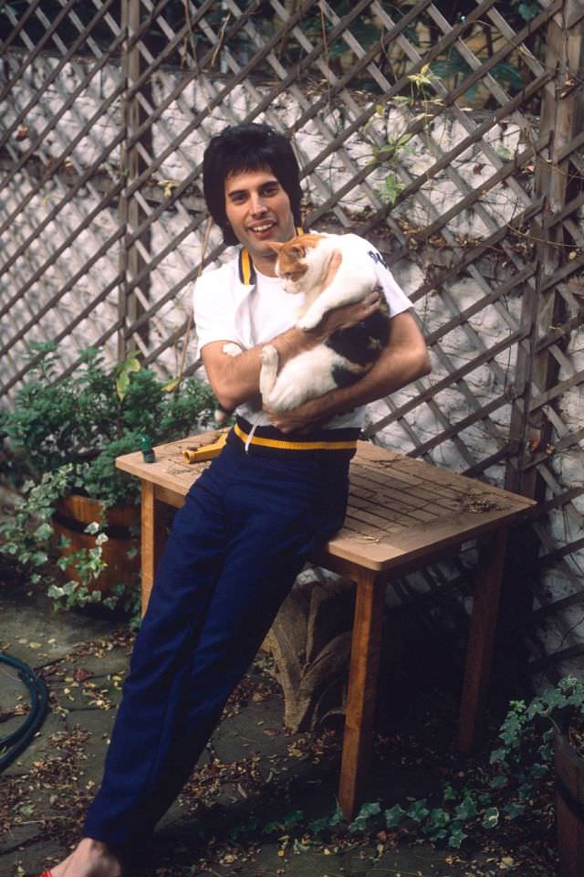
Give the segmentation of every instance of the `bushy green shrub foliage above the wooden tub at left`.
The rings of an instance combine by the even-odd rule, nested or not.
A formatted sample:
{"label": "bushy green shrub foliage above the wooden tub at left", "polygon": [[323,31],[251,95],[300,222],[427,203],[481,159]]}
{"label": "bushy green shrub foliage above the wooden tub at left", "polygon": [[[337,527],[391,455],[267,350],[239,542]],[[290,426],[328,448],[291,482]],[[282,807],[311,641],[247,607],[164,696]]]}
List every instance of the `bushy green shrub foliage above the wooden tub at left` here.
{"label": "bushy green shrub foliage above the wooden tub at left", "polygon": [[144,436],[153,444],[172,441],[212,417],[209,386],[190,377],[167,392],[135,353],[110,369],[103,354],[88,347],[79,368],[64,379],[57,378],[56,344],[36,343],[33,354],[41,354],[40,360],[18,390],[14,409],[0,421],[21,477],[38,482],[70,464],[75,488],[82,483],[87,495],[105,506],[135,502],[140,485],[116,470],[115,458],[139,450]]}

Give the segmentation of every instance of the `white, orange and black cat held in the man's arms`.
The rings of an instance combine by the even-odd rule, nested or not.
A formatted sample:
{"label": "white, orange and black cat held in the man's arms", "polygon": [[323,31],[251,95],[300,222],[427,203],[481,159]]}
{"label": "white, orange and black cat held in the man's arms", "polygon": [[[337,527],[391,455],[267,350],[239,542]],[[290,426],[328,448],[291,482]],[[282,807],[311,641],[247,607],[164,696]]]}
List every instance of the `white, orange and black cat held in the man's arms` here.
{"label": "white, orange and black cat held in the man's arms", "polygon": [[[278,254],[276,274],[284,280],[285,290],[305,293],[297,312],[299,329],[314,329],[328,311],[360,301],[380,287],[374,259],[378,254],[368,251],[356,235],[306,234],[285,244],[272,242],[271,246]],[[339,268],[324,287],[335,253],[341,257]],[[273,411],[289,411],[338,386],[353,384],[369,371],[389,334],[389,312],[381,294],[376,312],[333,333],[312,350],[297,354],[280,372],[276,347],[266,344],[259,376],[263,405]]]}

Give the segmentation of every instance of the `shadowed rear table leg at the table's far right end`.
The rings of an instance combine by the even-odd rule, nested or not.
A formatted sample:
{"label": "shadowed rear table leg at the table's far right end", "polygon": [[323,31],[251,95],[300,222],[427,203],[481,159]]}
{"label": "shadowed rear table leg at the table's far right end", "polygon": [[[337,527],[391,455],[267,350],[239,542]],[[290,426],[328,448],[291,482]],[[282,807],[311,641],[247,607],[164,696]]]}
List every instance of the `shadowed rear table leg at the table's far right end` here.
{"label": "shadowed rear table leg at the table's far right end", "polygon": [[507,532],[506,528],[498,530],[479,544],[458,722],[458,748],[467,754],[472,752],[479,732],[484,730]]}

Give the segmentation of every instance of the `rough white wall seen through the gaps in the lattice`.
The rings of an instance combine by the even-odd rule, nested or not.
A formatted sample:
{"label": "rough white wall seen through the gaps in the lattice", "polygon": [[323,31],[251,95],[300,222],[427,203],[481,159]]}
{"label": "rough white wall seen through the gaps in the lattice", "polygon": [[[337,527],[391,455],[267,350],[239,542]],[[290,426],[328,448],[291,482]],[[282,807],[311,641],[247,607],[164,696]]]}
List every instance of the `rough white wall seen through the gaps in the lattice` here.
{"label": "rough white wall seen through the gaps in the lattice", "polygon": [[[16,69],[17,61],[17,53],[6,57],[5,74]],[[117,204],[112,203],[104,206],[96,214],[88,229],[78,231],[84,218],[98,206],[100,198],[103,197],[103,186],[113,185],[120,178],[120,149],[116,146],[111,147],[109,153],[105,154],[100,162],[99,179],[90,179],[79,190],[78,195],[58,211],[57,216],[43,231],[36,230],[50,211],[67,197],[67,174],[70,180],[82,174],[96,161],[99,153],[108,150],[120,132],[121,125],[119,99],[112,102],[108,111],[99,113],[103,101],[108,100],[113,94],[120,80],[119,70],[107,66],[89,81],[71,107],[63,113],[57,125],[51,127],[51,119],[61,110],[64,101],[68,100],[68,96],[78,87],[81,78],[89,69],[88,62],[76,60],[59,73],[53,84],[44,88],[43,83],[47,82],[56,64],[55,58],[36,58],[36,61],[26,69],[26,74],[19,79],[11,92],[10,100],[5,103],[0,114],[1,135],[14,122],[16,115],[26,107],[26,104],[33,97],[36,98],[34,105],[26,110],[25,118],[20,125],[23,132],[26,125],[26,135],[22,139],[11,136],[6,143],[5,152],[0,154],[0,158],[5,160],[5,164],[0,167],[0,224],[7,222],[7,228],[0,238],[3,264],[6,264],[6,260],[16,248],[30,238],[26,252],[16,260],[15,264],[9,269],[0,270],[0,306],[9,301],[15,291],[21,289],[36,271],[40,271],[38,279],[19,297],[16,307],[10,310],[0,324],[0,343],[4,344],[26,322],[32,323],[26,333],[26,339],[15,343],[5,354],[5,369],[11,373],[15,373],[24,364],[30,341],[48,340],[55,337],[57,333],[64,332],[67,337],[61,346],[65,358],[68,359],[81,347],[97,343],[118,318],[117,292],[114,289],[104,301],[90,308],[87,317],[79,322],[71,333],[66,332],[71,319],[115,279],[119,269],[119,248],[116,244],[100,256],[89,270],[82,272],[74,289],[58,302],[55,301],[47,314],[40,318],[37,316],[43,305],[53,301],[64,284],[78,270],[83,269],[88,259],[97,253],[99,247],[113,234],[118,225]],[[179,79],[184,77],[184,73],[159,71],[152,83],[154,107],[160,106]],[[169,143],[181,136],[196,113],[208,108],[210,101],[214,100],[221,87],[220,80],[213,83],[203,76],[198,79],[193,78],[185,84],[180,97],[173,100],[163,112],[162,119],[154,123],[152,132],[154,157],[161,156]],[[193,173],[194,168],[201,164],[203,149],[209,137],[223,129],[226,124],[241,122],[248,113],[254,111],[258,98],[264,92],[265,90],[260,87],[252,87],[251,83],[235,88],[228,99],[223,100],[214,111],[208,112],[203,121],[194,127],[193,132],[184,138],[180,146],[173,148],[163,159],[160,167],[152,174],[149,185],[156,186],[161,194],[165,189],[179,185]],[[305,105],[309,105],[309,98],[303,97],[302,100]],[[269,111],[266,111],[258,121],[265,120],[293,126],[302,109],[303,105],[297,93],[283,94],[272,103]],[[403,106],[391,107],[370,127],[351,136],[343,151],[334,152],[323,160],[318,166],[318,171],[305,183],[309,204],[312,207],[323,204],[331,194],[339,192],[342,185],[359,168],[367,167],[371,162],[373,143],[383,143],[388,137],[399,135],[409,120],[410,112]],[[54,160],[68,149],[69,144],[94,115],[96,119],[89,131],[80,137],[68,156],[65,176],[62,173],[51,174],[48,164],[50,160]],[[349,123],[349,115],[347,111],[341,112],[335,107],[327,108],[318,120],[308,122],[296,133],[294,144],[303,166],[325,149],[333,136],[344,131]],[[485,114],[474,121],[479,123],[484,119]],[[467,115],[467,121],[473,122],[472,115]],[[456,115],[450,112],[445,113],[437,121],[429,123],[424,132],[425,137],[414,137],[405,148],[401,149],[399,170],[381,167],[371,173],[365,184],[340,198],[334,209],[334,217],[330,217],[328,223],[336,219],[339,228],[358,224],[368,210],[375,210],[383,203],[383,181],[388,173],[399,174],[404,184],[418,177],[430,167],[436,155],[441,151],[446,152],[454,144],[462,141],[467,133],[463,122],[460,113]],[[30,189],[28,174],[31,165],[30,162],[26,164],[7,182],[8,161],[15,161],[26,153],[37,135],[42,136],[31,160],[36,160],[37,167],[39,161],[45,165],[46,182],[41,190],[32,196],[26,208],[17,211],[19,203]],[[428,137],[431,137],[432,141],[429,141]],[[402,223],[407,221],[410,227],[426,226],[435,217],[442,216],[468,191],[485,185],[488,178],[495,173],[497,163],[501,164],[505,157],[508,158],[509,155],[516,153],[516,150],[521,151],[525,147],[525,139],[526,133],[517,122],[493,125],[485,136],[486,145],[469,147],[445,171],[427,182],[423,186],[422,195],[415,201],[408,199],[392,211],[392,220],[400,220]],[[478,206],[473,206],[455,216],[445,229],[445,236],[454,248],[454,255],[456,247],[461,245],[461,238],[483,239],[523,209],[527,204],[528,195],[522,191],[522,188],[527,189],[529,183],[529,179],[523,177],[520,183],[509,181],[495,185],[485,193]],[[202,205],[202,192],[198,182],[195,181],[188,196]],[[156,206],[153,202],[148,203],[149,210],[155,209]],[[16,216],[9,219],[13,212],[16,212]],[[165,210],[160,221],[152,228],[151,252],[154,254],[161,252],[162,248],[172,244],[187,225],[194,226],[199,218],[181,205]],[[202,252],[203,230],[204,223],[196,231],[192,228],[183,241],[178,246],[173,246],[172,252],[152,271],[151,301],[160,299],[174,284],[180,283],[193,265],[197,264]],[[51,254],[69,235],[72,236],[72,241],[55,264],[42,269],[44,262],[50,259]],[[213,248],[219,241],[220,235],[214,229],[209,246]],[[429,252],[431,249],[427,248],[413,253],[412,259],[401,259],[393,266],[397,280],[414,298],[424,281],[424,269],[427,266],[424,266],[423,260],[428,257]],[[225,253],[224,258],[229,255],[229,252]],[[519,262],[520,259],[517,258],[516,267],[519,267]],[[444,284],[440,291],[431,291],[418,299],[416,312],[424,332],[432,333],[439,329],[458,312],[464,311],[479,300],[486,290],[494,288],[497,282],[501,282],[511,272],[511,267],[502,269],[500,280],[495,280],[483,276],[480,266],[477,266],[474,273],[467,271],[464,275]],[[191,292],[191,285],[184,287],[152,320],[151,349],[158,346],[158,343],[183,323],[190,306]],[[521,300],[516,293],[512,293],[501,302],[500,306],[489,305],[471,317],[467,325],[454,328],[441,340],[442,353],[433,354],[433,375],[422,379],[418,386],[406,387],[395,394],[392,397],[392,404],[398,407],[405,404],[418,394],[420,388],[429,386],[430,382],[438,383],[454,369],[472,360],[480,350],[488,350],[500,343],[511,332],[512,326],[519,323],[520,310]],[[106,343],[106,349],[112,357],[115,356],[115,348],[115,335],[112,335]],[[575,369],[581,367],[582,349],[580,333],[575,335],[570,343],[570,367],[573,366]],[[177,345],[176,349],[162,355],[159,367],[168,375],[173,375],[176,373],[179,359],[180,345]],[[190,360],[193,360],[193,354]],[[472,373],[465,375],[465,387],[448,386],[435,396],[433,407],[427,405],[415,407],[406,416],[410,432],[397,421],[383,429],[380,435],[381,441],[394,449],[409,451],[414,446],[412,434],[420,442],[433,439],[443,431],[444,424],[452,424],[467,417],[474,402],[482,405],[496,396],[502,396],[507,384],[514,379],[515,360],[514,346],[497,354],[495,367],[481,365]],[[563,428],[567,432],[581,428],[583,410],[581,395],[582,390],[574,388],[565,393],[559,402]],[[510,404],[503,404],[491,415],[488,425],[479,422],[460,431],[456,439],[439,444],[433,449],[433,460],[451,469],[464,470],[469,465],[469,459],[484,460],[494,454],[510,438],[513,438],[509,436],[510,411]],[[388,412],[389,408],[385,401],[377,402],[370,406],[370,420],[379,420]],[[466,455],[461,445],[466,449]],[[584,480],[581,454],[575,449],[558,453],[551,460],[550,466],[560,487],[581,485]],[[503,481],[504,468],[502,465],[493,466],[486,475],[491,481],[500,484]],[[578,500],[573,506],[552,512],[546,530],[551,543],[565,544],[566,541],[581,537],[582,511],[584,511],[584,501]],[[566,561],[578,575],[580,560],[584,568],[584,558],[579,554],[573,555],[569,561]],[[550,596],[554,598],[566,596],[574,588],[574,580],[570,580],[566,575],[562,564],[546,571],[545,582]],[[550,621],[546,633],[547,649],[565,648],[569,644],[579,642],[581,621],[579,607],[569,608]]]}

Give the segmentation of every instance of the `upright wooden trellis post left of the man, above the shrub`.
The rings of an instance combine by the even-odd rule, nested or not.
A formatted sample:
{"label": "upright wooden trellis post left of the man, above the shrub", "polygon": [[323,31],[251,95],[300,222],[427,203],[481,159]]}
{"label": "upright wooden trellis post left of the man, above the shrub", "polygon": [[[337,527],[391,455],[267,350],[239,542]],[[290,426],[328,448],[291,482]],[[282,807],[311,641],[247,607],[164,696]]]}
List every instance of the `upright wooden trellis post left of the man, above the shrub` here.
{"label": "upright wooden trellis post left of the man, above the shrub", "polygon": [[[141,124],[147,119],[144,103],[151,105],[151,84],[141,84],[140,89],[130,95],[130,90],[139,81],[141,71],[145,67],[141,56],[139,42],[131,43],[140,30],[142,20],[141,0],[122,0],[122,26],[126,29],[126,42],[122,58],[122,76],[126,81],[123,117],[126,130],[125,143],[121,150],[121,173],[125,174],[125,187],[120,198],[120,222],[125,226],[120,252],[120,267],[123,280],[120,286],[119,316],[120,332],[118,333],[118,360],[123,362],[130,350],[136,349],[139,342],[148,343],[148,322],[140,328],[128,333],[128,326],[135,322],[146,310],[150,298],[150,275],[146,274],[139,282],[136,278],[148,263],[151,252],[151,228],[148,226],[140,236],[132,240],[132,235],[147,217],[143,202],[140,200],[141,187],[132,195],[129,188],[148,167],[147,156],[152,153],[152,132],[147,128],[135,140]],[[146,33],[142,35],[145,40]]]}

